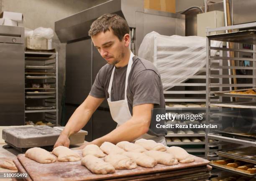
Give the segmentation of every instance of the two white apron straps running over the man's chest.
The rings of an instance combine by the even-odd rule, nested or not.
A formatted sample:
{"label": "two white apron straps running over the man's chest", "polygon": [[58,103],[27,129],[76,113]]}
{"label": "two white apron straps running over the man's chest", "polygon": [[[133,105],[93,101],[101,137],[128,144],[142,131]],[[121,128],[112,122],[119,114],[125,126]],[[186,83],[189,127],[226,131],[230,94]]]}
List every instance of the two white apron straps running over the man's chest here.
{"label": "two white apron straps running over the man's chest", "polygon": [[[133,65],[133,57],[134,57],[134,55],[131,52],[127,70],[126,70],[126,76],[125,76],[125,100],[127,99],[128,77],[131,72],[131,67]],[[111,73],[110,82],[109,82],[109,86],[108,86],[108,95],[109,95],[110,101],[111,101],[111,88],[112,88],[112,84],[113,84],[114,73],[115,73],[115,65],[114,65],[113,71]]]}

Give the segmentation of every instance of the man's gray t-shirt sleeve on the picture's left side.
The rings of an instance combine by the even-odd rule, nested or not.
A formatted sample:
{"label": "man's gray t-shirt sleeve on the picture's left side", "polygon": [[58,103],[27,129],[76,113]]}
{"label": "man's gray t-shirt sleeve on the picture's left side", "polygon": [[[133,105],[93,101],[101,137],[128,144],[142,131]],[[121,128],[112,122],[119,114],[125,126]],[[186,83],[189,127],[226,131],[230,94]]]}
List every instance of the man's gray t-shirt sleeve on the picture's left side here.
{"label": "man's gray t-shirt sleeve on the picture's left side", "polygon": [[102,67],[100,71],[97,73],[89,95],[95,98],[106,97],[104,89],[104,67]]}

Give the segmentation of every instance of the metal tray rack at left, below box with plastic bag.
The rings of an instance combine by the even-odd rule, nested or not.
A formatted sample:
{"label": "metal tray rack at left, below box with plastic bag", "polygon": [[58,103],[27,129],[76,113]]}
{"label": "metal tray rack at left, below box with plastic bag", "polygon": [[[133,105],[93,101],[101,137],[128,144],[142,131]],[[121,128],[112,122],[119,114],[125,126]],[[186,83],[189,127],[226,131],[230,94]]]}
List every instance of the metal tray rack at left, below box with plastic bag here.
{"label": "metal tray rack at left, below box with plastic bag", "polygon": [[59,125],[58,52],[25,51],[25,120]]}

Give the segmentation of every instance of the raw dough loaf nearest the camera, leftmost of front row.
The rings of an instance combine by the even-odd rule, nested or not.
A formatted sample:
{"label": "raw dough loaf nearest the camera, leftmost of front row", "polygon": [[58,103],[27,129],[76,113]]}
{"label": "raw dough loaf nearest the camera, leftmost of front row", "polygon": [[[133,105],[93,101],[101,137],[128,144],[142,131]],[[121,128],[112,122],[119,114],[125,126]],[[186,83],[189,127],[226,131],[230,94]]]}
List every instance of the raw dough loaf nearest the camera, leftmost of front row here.
{"label": "raw dough loaf nearest the camera, leftmost of front row", "polygon": [[96,174],[108,174],[115,173],[115,168],[101,158],[97,158],[93,155],[87,155],[81,160],[82,165],[86,166],[88,170]]}

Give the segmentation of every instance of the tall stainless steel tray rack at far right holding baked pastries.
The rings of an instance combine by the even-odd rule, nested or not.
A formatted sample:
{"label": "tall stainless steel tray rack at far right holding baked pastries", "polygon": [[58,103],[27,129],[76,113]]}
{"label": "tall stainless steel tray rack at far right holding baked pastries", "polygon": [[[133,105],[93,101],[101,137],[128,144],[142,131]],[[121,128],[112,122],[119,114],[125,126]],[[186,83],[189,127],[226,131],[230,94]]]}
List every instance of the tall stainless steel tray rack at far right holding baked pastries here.
{"label": "tall stainless steel tray rack at far right holding baked pastries", "polygon": [[[218,127],[218,131],[214,131],[214,129],[206,129],[205,157],[209,160],[222,159],[223,157],[235,158],[236,156],[234,155],[221,153],[221,151],[226,148],[235,150],[241,146],[256,147],[255,139],[242,135],[242,131],[239,133],[238,130],[238,134],[234,134],[232,131],[232,128],[235,129],[236,124],[241,125],[241,127],[238,127],[237,129],[242,130],[241,128],[244,126],[243,124],[246,124],[243,122],[244,119],[252,121],[251,128],[255,126],[253,123],[253,120],[255,119],[253,117],[250,117],[250,115],[238,116],[237,112],[241,110],[256,111],[256,97],[243,93],[230,93],[231,91],[236,91],[236,89],[237,91],[245,91],[256,87],[256,46],[254,45],[256,43],[256,30],[248,30],[250,28],[254,29],[255,27],[256,23],[246,23],[220,28],[206,28],[206,122],[209,124],[210,119],[212,119],[212,116],[214,115],[215,123],[218,123],[218,126],[220,126]],[[213,32],[223,30],[225,30],[226,33],[212,35]],[[233,32],[228,33],[228,30],[233,30]],[[227,47],[211,47],[211,40],[221,41],[223,42],[223,45],[226,44]],[[245,43],[249,45],[249,49],[244,46]],[[222,55],[212,56],[210,50],[219,50],[222,52]],[[221,60],[220,65],[214,65],[212,63],[212,61],[216,59]],[[245,62],[247,62],[246,66]],[[231,71],[233,69],[234,71]],[[219,74],[212,73],[212,70],[219,70]],[[250,70],[250,72],[247,71],[243,75],[238,75],[238,70]],[[212,93],[213,89],[215,91]],[[211,101],[213,98],[219,98],[220,101],[212,104]],[[212,110],[212,107],[217,108],[218,111]],[[228,129],[229,127],[224,129],[226,125],[230,125],[230,129]],[[215,141],[214,146],[209,142],[210,139]],[[226,172],[237,173],[244,176],[254,176],[253,174],[246,175],[243,172],[227,169],[216,164],[212,164],[212,166]]]}

